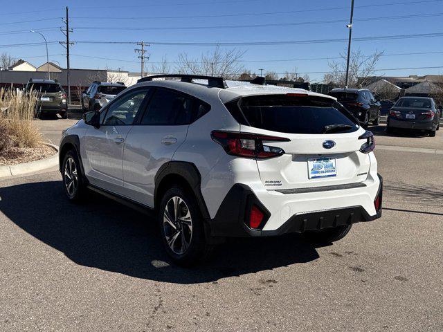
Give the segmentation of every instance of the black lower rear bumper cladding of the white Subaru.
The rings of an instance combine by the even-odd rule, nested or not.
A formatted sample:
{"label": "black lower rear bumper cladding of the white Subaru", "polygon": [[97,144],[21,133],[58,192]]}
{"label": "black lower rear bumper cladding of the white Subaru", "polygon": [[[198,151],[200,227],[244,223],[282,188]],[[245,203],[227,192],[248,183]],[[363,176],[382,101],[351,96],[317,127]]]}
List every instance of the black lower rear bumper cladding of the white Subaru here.
{"label": "black lower rear bumper cladding of the white Subaru", "polygon": [[[381,176],[379,176],[381,179]],[[381,196],[383,182],[377,196]],[[252,205],[257,205],[264,212],[264,223],[271,214],[257,199],[247,185],[235,184],[229,190],[214,219],[210,220],[210,235],[212,237],[266,237],[291,232],[305,232],[307,230],[322,230],[340,225],[351,225],[361,221],[372,221],[381,217],[381,207],[377,214],[370,216],[362,206],[352,206],[334,210],[323,210],[305,214],[294,214],[277,230],[253,230],[248,228],[245,221]]]}

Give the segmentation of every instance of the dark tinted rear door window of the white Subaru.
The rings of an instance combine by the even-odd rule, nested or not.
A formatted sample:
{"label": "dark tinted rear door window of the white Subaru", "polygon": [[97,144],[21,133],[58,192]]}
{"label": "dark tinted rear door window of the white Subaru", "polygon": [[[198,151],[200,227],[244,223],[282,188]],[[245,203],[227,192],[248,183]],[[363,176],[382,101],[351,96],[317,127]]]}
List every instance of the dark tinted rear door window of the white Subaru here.
{"label": "dark tinted rear door window of the white Subaru", "polygon": [[181,93],[157,89],[145,111],[141,124],[189,124],[192,118],[193,102],[192,98]]}

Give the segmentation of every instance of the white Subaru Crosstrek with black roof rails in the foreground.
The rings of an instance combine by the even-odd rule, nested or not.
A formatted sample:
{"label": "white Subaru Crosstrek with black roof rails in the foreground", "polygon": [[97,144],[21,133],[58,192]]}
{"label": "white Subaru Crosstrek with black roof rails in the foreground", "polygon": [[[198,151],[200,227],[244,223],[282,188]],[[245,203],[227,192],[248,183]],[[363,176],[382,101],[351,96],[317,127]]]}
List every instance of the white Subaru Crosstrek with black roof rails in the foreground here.
{"label": "white Subaru Crosstrek with black roof rails in the foreground", "polygon": [[89,188],[154,212],[180,264],[226,237],[332,242],[379,218],[372,133],[335,98],[263,81],[144,77],[64,131],[66,196]]}

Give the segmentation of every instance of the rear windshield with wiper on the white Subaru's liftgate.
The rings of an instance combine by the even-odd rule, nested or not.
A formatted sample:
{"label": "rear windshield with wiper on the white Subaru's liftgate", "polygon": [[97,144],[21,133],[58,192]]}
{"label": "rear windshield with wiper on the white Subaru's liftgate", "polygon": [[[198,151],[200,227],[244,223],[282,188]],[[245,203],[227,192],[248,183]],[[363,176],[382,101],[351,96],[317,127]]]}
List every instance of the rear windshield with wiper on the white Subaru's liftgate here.
{"label": "rear windshield with wiper on the white Subaru's liftgate", "polygon": [[[233,104],[227,107],[233,113]],[[353,116],[329,98],[248,97],[237,102],[233,116],[241,124],[281,133],[325,133],[328,127],[336,127],[330,133],[347,133],[359,128]]]}

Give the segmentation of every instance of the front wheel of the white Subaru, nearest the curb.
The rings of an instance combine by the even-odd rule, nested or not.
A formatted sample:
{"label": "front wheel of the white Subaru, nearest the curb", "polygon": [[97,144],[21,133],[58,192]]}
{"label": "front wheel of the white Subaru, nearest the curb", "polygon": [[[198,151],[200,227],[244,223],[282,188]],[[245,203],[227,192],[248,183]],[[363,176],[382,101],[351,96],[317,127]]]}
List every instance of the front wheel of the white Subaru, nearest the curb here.
{"label": "front wheel of the white Subaru, nearest the curb", "polygon": [[86,183],[75,150],[66,152],[62,163],[63,191],[69,201],[80,202],[84,199]]}

